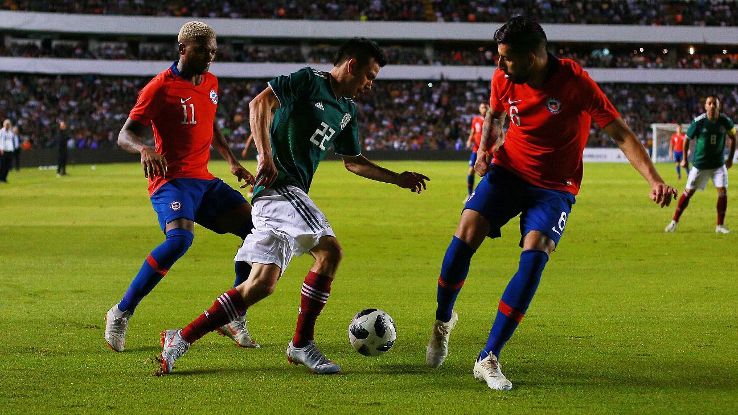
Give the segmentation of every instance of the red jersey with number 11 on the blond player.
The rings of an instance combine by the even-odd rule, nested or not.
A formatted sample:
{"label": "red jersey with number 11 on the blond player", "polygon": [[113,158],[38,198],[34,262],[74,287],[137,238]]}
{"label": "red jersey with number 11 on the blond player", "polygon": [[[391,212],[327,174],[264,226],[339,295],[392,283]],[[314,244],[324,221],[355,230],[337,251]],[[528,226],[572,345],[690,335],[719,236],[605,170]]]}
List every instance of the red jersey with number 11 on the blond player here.
{"label": "red jersey with number 11 on the blond player", "polygon": [[215,177],[208,161],[217,108],[218,78],[210,72],[195,85],[179,76],[174,64],[141,90],[128,116],[151,125],[155,150],[167,160],[166,177],[149,177],[149,194],[172,179]]}

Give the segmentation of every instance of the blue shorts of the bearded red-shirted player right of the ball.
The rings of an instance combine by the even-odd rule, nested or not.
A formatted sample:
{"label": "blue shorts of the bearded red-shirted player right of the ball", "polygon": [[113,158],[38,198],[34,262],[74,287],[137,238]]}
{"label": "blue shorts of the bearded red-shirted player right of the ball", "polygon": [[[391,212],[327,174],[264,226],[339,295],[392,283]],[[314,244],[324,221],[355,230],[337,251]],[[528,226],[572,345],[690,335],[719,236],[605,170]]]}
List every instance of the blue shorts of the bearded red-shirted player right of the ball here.
{"label": "blue shorts of the bearded red-shirted player right of the ball", "polygon": [[530,231],[542,232],[558,245],[575,202],[571,193],[533,186],[492,165],[464,209],[475,210],[489,221],[490,238],[500,237],[500,228],[520,214],[521,246]]}

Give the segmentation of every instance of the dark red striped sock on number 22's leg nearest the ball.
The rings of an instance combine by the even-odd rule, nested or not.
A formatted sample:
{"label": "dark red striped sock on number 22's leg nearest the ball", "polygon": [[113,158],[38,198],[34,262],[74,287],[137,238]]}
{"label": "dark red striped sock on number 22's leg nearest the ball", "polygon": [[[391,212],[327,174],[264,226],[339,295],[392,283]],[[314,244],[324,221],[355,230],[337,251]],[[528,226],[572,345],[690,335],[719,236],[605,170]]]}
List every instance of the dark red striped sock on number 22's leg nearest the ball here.
{"label": "dark red striped sock on number 22's leg nearest the ball", "polygon": [[295,347],[304,347],[313,340],[315,333],[315,321],[325,307],[328,296],[331,293],[331,282],[333,278],[326,275],[308,272],[302,283],[300,313],[297,316],[297,327],[292,337]]}

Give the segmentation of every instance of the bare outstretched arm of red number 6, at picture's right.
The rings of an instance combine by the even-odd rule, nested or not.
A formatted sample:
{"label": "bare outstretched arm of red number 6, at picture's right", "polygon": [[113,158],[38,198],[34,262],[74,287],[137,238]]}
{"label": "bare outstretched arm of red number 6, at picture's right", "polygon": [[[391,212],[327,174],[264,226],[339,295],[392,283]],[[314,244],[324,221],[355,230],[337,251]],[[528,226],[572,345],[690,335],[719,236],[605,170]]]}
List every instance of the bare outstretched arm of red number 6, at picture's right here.
{"label": "bare outstretched arm of red number 6, at picture's right", "polygon": [[617,118],[608,124],[604,130],[617,143],[630,164],[638,170],[651,186],[651,200],[661,207],[669,206],[671,200],[676,198],[676,189],[664,183],[648,157],[643,144],[638,141],[633,131],[625,124],[625,121],[622,118]]}

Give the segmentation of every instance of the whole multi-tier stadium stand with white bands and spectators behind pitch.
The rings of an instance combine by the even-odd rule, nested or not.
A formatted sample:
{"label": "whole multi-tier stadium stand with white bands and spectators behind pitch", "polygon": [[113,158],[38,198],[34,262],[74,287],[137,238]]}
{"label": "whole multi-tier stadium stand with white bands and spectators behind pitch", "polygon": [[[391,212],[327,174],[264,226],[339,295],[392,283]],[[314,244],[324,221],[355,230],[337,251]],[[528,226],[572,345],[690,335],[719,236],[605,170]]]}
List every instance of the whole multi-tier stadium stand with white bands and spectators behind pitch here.
{"label": "whole multi-tier stadium stand with white bands and spectators behind pitch", "polygon": [[[53,126],[62,116],[73,132],[70,147],[115,148],[136,92],[176,59],[176,29],[170,27],[178,28],[184,20],[171,16],[257,17],[270,20],[213,23],[220,49],[213,68],[221,78],[218,122],[234,147],[242,146],[248,135],[248,102],[266,79],[306,64],[325,69],[342,39],[376,33],[391,64],[383,69],[374,93],[359,101],[365,149],[461,149],[471,115],[487,99],[496,61],[496,47],[489,41],[495,25],[468,22],[501,21],[518,13],[521,5],[541,8],[544,22],[567,23],[547,30],[552,53],[588,68],[644,141],[651,123],[686,121],[702,112],[699,99],[708,93],[723,97],[729,114],[738,105],[738,50],[730,42],[738,35],[738,25],[727,2],[710,2],[702,20],[694,17],[693,8],[685,10],[683,1],[659,2],[659,7],[649,8],[656,14],[640,13],[652,2],[635,0],[503,1],[494,7],[486,2],[425,1],[422,8],[418,2],[378,0],[326,3],[329,6],[242,3],[168,2],[176,6],[162,13],[140,1],[6,1],[4,9],[23,11],[0,11],[0,72],[6,73],[0,80],[0,117],[14,120],[35,148],[50,145]],[[565,3],[567,12],[561,7]],[[707,7],[705,3],[694,9]],[[453,4],[458,7],[452,10]],[[306,14],[297,14],[300,5]],[[208,10],[217,14],[205,13]],[[91,20],[90,14],[105,16]],[[289,20],[295,18],[311,21]],[[278,19],[283,20],[277,25]],[[343,21],[314,21],[320,19]],[[645,26],[581,23],[675,27],[654,32]],[[301,30],[299,38],[296,29]],[[613,144],[593,129],[589,146]]]}

